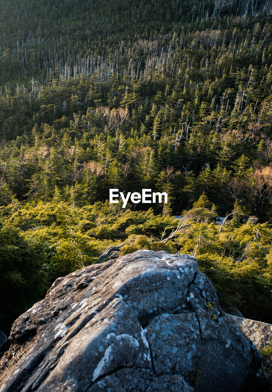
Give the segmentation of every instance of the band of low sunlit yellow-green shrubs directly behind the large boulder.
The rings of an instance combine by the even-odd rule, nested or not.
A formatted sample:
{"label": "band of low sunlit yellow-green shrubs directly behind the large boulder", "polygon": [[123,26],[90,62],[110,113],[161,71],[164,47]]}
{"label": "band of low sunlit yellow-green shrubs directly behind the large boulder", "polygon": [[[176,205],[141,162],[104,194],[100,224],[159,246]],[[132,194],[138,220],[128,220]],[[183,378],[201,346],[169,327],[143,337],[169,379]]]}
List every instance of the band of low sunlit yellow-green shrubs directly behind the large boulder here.
{"label": "band of low sunlit yellow-green shrubs directly behind the large boulder", "polygon": [[[205,195],[200,196],[195,205],[214,208]],[[246,217],[239,205],[234,209]],[[152,209],[141,212],[129,208],[118,210],[118,205],[108,201],[83,207],[41,201],[2,207],[0,214],[6,221],[3,227],[17,233],[14,238],[20,239],[15,248],[5,242],[5,260],[9,260],[12,253],[15,258],[18,255],[24,257],[25,247],[30,247],[31,251],[34,247],[36,253],[31,255],[36,258],[36,273],[45,278],[43,287],[49,287],[59,276],[90,265],[106,249],[129,241],[114,257],[137,249],[192,254],[199,269],[212,281],[224,310],[228,311],[233,305],[245,317],[272,321],[269,316],[272,310],[270,224],[251,223],[250,220],[239,223],[235,215],[231,215],[219,232],[220,226],[214,223],[216,213],[206,207],[184,211],[181,220],[155,215]],[[178,232],[171,237],[178,225]],[[27,265],[22,266],[25,273],[29,273]],[[4,264],[3,269],[6,268]],[[21,274],[13,273],[12,276],[14,284],[22,283]],[[7,292],[13,290],[13,284],[9,284]],[[27,306],[24,301],[23,304]]]}

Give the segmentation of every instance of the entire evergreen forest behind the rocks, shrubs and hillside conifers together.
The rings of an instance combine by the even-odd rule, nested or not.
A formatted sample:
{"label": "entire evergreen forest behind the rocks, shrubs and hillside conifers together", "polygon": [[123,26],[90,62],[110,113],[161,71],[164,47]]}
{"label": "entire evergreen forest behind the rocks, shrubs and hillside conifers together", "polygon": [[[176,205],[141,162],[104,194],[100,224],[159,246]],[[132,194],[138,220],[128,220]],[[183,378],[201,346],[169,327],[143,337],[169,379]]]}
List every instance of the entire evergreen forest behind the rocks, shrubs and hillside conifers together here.
{"label": "entire evergreen forest behind the rocks, shrubs and hillside conifers together", "polygon": [[[272,323],[272,1],[1,11],[0,329],[142,248],[195,256],[224,310]],[[115,188],[168,203],[122,209]]]}

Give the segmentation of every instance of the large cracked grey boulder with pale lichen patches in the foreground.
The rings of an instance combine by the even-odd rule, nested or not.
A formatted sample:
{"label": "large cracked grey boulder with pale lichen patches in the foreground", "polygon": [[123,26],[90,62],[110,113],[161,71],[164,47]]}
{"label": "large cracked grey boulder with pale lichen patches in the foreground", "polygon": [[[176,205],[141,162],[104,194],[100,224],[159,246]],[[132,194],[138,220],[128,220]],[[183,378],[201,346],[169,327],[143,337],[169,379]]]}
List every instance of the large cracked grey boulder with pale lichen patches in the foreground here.
{"label": "large cracked grey boulder with pale lichen patches in the foreground", "polygon": [[267,390],[256,347],[187,255],[138,250],[59,278],[9,339],[1,392]]}

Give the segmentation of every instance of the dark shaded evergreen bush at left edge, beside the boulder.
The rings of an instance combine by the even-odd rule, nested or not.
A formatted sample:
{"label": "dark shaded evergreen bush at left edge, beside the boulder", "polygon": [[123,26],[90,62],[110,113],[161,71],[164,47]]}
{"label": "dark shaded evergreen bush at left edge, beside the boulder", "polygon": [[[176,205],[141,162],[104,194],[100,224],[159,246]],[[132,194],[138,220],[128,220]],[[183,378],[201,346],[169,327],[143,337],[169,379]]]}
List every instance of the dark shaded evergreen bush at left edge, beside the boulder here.
{"label": "dark shaded evergreen bush at left edge, beside the boulder", "polygon": [[42,270],[45,255],[38,241],[24,235],[11,223],[0,225],[0,322],[8,332],[11,323],[42,299],[49,281]]}

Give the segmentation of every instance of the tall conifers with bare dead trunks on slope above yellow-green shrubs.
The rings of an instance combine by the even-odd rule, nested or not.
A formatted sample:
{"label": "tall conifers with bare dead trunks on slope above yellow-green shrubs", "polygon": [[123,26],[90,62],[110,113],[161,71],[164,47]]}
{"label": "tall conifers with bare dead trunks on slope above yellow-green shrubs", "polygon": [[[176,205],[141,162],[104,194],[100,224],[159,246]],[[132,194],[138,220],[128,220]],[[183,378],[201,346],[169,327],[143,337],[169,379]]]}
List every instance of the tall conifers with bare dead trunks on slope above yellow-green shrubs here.
{"label": "tall conifers with bare dead trunks on slope above yellow-green shrubs", "polygon": [[43,3],[1,8],[2,206],[151,187],[164,216],[204,192],[222,215],[237,201],[272,219],[268,5],[99,0],[90,22],[88,0]]}

